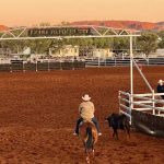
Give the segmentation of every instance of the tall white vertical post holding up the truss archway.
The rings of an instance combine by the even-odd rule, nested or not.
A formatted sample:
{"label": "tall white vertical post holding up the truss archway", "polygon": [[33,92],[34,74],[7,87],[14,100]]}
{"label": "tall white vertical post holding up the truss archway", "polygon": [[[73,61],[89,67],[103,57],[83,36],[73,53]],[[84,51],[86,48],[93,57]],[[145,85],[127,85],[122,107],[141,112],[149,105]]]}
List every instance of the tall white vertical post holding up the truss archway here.
{"label": "tall white vertical post holding up the truss archway", "polygon": [[[133,109],[133,66],[132,66],[132,36],[130,36],[130,113]],[[131,115],[131,114],[130,114]],[[130,117],[130,124],[131,124],[131,117]]]}

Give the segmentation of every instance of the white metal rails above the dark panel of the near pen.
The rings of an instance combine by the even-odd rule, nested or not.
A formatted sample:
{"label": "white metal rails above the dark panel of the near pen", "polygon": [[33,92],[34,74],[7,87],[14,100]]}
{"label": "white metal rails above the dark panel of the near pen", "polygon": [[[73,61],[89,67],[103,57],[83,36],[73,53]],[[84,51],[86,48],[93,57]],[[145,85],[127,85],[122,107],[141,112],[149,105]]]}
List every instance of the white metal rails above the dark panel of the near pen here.
{"label": "white metal rails above the dark panel of the near pen", "polygon": [[[133,102],[130,102],[130,97],[133,97]],[[125,114],[131,124],[131,112],[132,109],[150,113],[156,116],[164,116],[164,101],[161,98],[164,93],[145,93],[145,94],[133,94],[119,91],[119,113]],[[133,108],[130,108],[133,104]]]}

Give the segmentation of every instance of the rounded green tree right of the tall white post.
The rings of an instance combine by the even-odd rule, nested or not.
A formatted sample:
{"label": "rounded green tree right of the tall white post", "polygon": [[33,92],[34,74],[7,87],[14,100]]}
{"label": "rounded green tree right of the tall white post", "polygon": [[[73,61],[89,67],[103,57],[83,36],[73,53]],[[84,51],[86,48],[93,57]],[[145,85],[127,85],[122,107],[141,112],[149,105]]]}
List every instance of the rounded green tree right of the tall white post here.
{"label": "rounded green tree right of the tall white post", "polygon": [[141,51],[149,57],[150,52],[155,51],[157,49],[157,35],[152,32],[144,32],[138,37],[137,43]]}

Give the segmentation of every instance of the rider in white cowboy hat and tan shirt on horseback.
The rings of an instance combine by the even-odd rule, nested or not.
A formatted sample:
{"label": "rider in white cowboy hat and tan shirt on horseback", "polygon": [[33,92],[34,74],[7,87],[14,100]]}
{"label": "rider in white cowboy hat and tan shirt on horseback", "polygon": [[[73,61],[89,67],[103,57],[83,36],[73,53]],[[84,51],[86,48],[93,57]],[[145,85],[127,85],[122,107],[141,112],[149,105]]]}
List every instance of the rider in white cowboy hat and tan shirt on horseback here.
{"label": "rider in white cowboy hat and tan shirt on horseback", "polygon": [[79,126],[83,120],[92,120],[95,124],[98,136],[102,136],[99,131],[98,121],[94,117],[95,108],[94,108],[94,104],[90,101],[91,97],[87,94],[85,94],[84,96],[82,96],[82,99],[83,102],[79,106],[79,114],[81,117],[77,121],[77,127],[73,134],[79,136]]}

